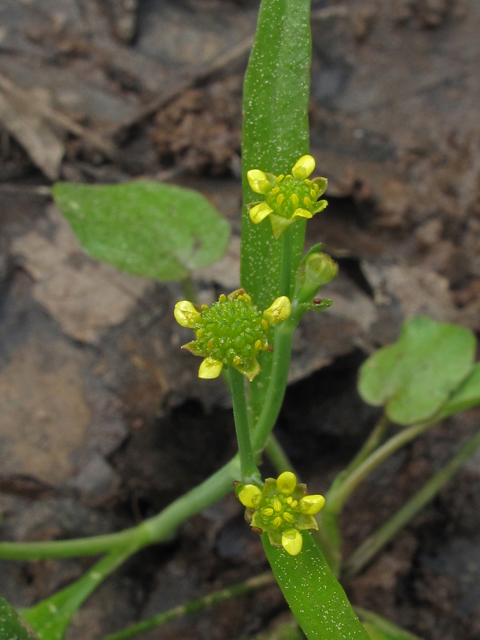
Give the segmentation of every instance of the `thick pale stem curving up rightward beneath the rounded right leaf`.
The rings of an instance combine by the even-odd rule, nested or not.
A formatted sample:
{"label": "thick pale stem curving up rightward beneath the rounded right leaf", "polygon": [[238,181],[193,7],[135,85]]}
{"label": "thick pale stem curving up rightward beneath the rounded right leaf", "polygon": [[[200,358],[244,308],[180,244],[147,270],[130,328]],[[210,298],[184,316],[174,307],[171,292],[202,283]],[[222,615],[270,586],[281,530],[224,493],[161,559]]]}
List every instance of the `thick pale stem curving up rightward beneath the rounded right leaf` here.
{"label": "thick pale stem curving up rightward beneath the rounded right leaf", "polygon": [[384,445],[374,451],[366,460],[351,473],[339,487],[332,487],[328,492],[325,509],[332,513],[340,513],[345,500],[352,491],[367,477],[378,465],[386,460],[388,456],[395,453],[400,447],[407,444],[421,433],[426,431],[435,421],[422,422],[403,429],[393,438],[387,440]]}

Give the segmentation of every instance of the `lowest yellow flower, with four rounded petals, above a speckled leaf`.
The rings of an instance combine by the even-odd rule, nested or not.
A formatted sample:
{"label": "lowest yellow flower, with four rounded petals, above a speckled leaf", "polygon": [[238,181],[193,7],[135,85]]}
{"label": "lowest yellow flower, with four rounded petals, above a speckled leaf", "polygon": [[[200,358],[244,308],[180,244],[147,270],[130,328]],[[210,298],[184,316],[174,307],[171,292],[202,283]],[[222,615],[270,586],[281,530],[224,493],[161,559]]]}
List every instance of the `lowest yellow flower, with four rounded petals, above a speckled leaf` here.
{"label": "lowest yellow flower, with four rounded petals, above a speckled leaf", "polygon": [[263,489],[252,484],[237,483],[236,494],[247,507],[245,517],[258,533],[268,533],[271,544],[282,546],[294,556],[300,553],[303,529],[318,529],[313,517],[325,499],[307,495],[307,487],[297,484],[295,474],[285,471],[275,480],[267,478]]}

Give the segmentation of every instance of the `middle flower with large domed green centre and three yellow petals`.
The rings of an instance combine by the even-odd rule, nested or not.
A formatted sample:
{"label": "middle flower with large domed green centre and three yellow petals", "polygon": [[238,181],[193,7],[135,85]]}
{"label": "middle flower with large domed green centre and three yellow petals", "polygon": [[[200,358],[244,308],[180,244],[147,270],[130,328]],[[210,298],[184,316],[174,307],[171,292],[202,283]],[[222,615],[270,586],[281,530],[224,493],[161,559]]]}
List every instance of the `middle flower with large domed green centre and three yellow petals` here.
{"label": "middle flower with large domed green centre and three yellow petals", "polygon": [[260,373],[257,355],[270,349],[269,326],[288,318],[290,310],[290,300],[281,296],[262,313],[250,296],[238,289],[200,309],[182,300],[175,305],[174,314],[182,327],[195,331],[196,340],[182,348],[204,358],[200,378],[217,378],[223,367],[234,367],[251,381]]}

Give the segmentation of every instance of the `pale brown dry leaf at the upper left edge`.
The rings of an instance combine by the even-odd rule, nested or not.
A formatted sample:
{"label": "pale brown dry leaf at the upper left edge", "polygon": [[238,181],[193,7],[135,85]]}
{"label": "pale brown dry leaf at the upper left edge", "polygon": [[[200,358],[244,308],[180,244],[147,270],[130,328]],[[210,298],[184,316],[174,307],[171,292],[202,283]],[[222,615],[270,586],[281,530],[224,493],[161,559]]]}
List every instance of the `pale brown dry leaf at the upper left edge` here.
{"label": "pale brown dry leaf at the upper left edge", "polygon": [[0,123],[22,145],[32,162],[51,180],[57,180],[65,152],[62,136],[40,115],[36,104],[49,106],[50,94],[32,89],[31,103],[0,90]]}

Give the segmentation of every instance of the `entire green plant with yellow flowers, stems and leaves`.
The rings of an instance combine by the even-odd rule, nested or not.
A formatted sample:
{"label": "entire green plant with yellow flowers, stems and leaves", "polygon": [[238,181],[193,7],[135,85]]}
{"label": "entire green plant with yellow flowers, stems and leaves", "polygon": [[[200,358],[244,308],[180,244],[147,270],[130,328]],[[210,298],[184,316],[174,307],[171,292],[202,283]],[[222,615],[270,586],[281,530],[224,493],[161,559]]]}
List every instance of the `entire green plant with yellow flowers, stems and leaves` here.
{"label": "entire green plant with yellow flowers, stems and leaves", "polygon": [[[205,384],[221,373],[227,378],[239,453],[131,529],[81,540],[1,543],[4,559],[103,556],[78,581],[23,612],[41,640],[60,640],[71,616],[108,575],[138,550],[167,539],[233,483],[309,640],[412,638],[383,618],[358,611],[362,624],[339,578],[355,575],[436,495],[480,446],[480,433],[345,563],[339,517],[358,484],[388,456],[439,420],[480,403],[480,364],[474,363],[476,344],[468,330],[428,318],[408,321],[399,341],[362,367],[360,393],[366,402],[383,406],[384,414],[326,500],[306,494],[272,436],[295,328],[308,311],[321,312],[331,304],[316,296],[338,270],[321,245],[302,256],[306,221],[325,208],[326,201],[319,198],[327,186],[324,178],[309,178],[314,170],[308,153],[309,10],[308,0],[263,0],[260,8],[244,91],[242,290],[220,296],[210,308],[195,304],[191,271],[219,258],[228,240],[228,226],[199,194],[148,182],[54,187],[57,204],[93,257],[137,275],[182,282],[187,299],[177,304],[175,317],[195,332],[185,348],[203,358],[199,375],[207,379]],[[392,423],[397,428],[387,438]],[[265,450],[278,468],[277,479],[261,477],[257,465]],[[156,616],[109,640],[132,637],[271,579],[224,590],[217,598]],[[18,626],[11,610],[8,616],[9,624]]]}

